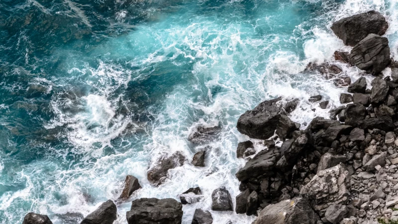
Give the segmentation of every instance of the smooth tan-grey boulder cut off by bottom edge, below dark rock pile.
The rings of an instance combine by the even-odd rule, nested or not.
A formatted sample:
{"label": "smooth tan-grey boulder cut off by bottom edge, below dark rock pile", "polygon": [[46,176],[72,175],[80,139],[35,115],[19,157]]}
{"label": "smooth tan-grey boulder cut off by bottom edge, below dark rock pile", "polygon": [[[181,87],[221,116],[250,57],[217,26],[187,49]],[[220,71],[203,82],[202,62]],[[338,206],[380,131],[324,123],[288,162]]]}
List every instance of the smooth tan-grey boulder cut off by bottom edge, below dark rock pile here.
{"label": "smooth tan-grey boulder cut off by bottom edge, below dark rock pile", "polygon": [[282,201],[265,207],[254,224],[317,224],[319,216],[303,198]]}

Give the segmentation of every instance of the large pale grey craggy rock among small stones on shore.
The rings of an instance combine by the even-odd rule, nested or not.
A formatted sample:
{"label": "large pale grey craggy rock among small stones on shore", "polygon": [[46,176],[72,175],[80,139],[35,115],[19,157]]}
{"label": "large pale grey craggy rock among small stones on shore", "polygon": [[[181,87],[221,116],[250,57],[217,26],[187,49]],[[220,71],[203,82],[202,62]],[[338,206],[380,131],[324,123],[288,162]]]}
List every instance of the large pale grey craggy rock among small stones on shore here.
{"label": "large pale grey craggy rock among small stones on shore", "polygon": [[348,200],[350,174],[342,165],[322,170],[300,190],[300,197],[308,200],[315,211],[329,207],[331,203]]}

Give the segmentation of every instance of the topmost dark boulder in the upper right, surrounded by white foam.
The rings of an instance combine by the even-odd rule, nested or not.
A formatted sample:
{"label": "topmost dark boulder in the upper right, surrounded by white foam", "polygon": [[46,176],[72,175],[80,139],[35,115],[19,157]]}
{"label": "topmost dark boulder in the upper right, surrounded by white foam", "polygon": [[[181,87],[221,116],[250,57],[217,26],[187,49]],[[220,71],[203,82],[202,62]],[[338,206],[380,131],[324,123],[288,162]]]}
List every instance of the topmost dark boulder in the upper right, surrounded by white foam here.
{"label": "topmost dark boulder in the upper right, surrounded by white foam", "polygon": [[344,44],[355,46],[371,33],[383,35],[389,24],[386,18],[376,11],[368,11],[340,19],[330,27]]}

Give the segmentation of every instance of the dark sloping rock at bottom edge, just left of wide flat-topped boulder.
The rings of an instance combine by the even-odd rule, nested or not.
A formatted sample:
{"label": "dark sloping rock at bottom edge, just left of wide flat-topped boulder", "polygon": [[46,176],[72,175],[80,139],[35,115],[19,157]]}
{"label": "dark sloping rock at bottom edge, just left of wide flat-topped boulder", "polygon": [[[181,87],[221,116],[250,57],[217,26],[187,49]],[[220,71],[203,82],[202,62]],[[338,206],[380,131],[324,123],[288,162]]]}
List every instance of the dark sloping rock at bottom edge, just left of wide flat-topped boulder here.
{"label": "dark sloping rock at bottom edge, just left of wide flat-topped boulder", "polygon": [[116,205],[108,200],[96,209],[93,213],[89,214],[80,224],[113,224],[117,218]]}

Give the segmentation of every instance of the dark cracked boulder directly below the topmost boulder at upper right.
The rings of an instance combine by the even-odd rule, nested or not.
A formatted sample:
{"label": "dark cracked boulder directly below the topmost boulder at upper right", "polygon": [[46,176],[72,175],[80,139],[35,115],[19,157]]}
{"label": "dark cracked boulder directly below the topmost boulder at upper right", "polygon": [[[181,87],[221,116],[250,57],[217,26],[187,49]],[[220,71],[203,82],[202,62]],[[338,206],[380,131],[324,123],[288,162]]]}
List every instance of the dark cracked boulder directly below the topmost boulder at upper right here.
{"label": "dark cracked boulder directly below the topmost boulder at upper right", "polygon": [[351,64],[372,75],[382,72],[391,62],[389,40],[369,34],[351,50]]}

